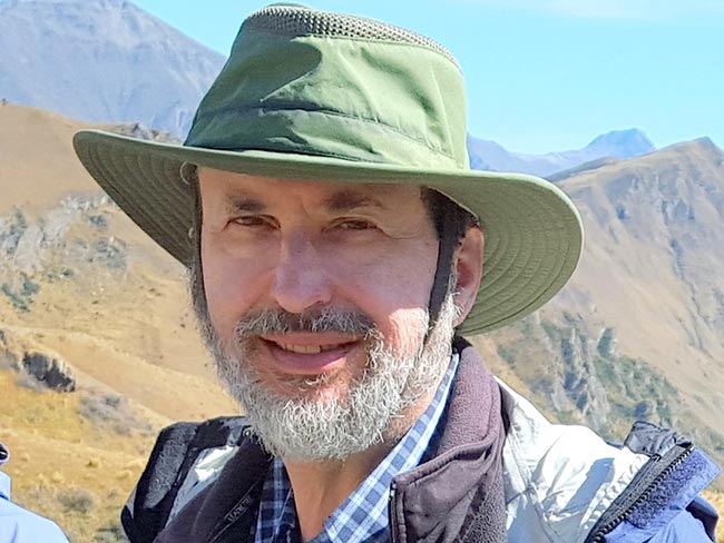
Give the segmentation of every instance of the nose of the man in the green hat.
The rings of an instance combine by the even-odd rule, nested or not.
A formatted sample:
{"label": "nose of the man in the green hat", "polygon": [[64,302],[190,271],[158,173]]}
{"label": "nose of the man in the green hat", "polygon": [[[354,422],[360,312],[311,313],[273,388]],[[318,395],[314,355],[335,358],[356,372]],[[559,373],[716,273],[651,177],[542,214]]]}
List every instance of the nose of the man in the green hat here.
{"label": "nose of the man in the green hat", "polygon": [[324,257],[310,236],[296,234],[282,241],[272,294],[290,313],[330,303],[332,292]]}

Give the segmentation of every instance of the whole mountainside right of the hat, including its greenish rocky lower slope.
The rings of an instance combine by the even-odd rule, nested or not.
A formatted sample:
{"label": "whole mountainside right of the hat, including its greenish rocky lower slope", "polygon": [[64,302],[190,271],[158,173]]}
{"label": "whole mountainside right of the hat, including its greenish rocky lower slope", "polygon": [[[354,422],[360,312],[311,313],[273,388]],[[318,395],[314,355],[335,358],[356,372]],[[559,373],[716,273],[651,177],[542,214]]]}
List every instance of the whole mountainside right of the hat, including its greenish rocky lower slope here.
{"label": "whole mountainside right of the hat, including its greenish rocky lower slope", "polygon": [[636,418],[724,460],[724,152],[708,139],[573,172],[559,185],[586,229],[579,269],[534,317],[489,335],[562,421],[622,441]]}

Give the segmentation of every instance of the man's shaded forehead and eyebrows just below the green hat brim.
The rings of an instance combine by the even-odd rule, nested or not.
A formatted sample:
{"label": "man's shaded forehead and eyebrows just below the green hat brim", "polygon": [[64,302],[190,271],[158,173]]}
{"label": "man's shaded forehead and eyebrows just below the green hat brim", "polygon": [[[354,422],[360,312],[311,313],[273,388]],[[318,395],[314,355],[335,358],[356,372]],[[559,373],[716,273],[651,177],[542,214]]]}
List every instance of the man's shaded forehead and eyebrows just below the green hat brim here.
{"label": "man's shaded forehead and eyebrows just below the green hat brim", "polygon": [[284,177],[257,177],[211,168],[199,168],[199,188],[204,206],[266,208],[301,201],[329,210],[352,208],[381,210],[423,210],[423,188],[417,185],[299,180]]}

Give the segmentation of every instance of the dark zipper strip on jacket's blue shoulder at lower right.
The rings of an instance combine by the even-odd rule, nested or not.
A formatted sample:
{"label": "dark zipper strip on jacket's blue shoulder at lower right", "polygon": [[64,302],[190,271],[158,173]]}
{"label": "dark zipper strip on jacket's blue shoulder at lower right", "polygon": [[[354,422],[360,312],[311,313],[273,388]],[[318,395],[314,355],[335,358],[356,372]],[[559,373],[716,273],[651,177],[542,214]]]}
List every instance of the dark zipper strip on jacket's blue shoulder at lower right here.
{"label": "dark zipper strip on jacket's blue shoulder at lower right", "polygon": [[694,452],[694,448],[691,443],[675,445],[663,456],[652,456],[628,486],[630,491],[625,491],[614,500],[614,503],[594,525],[585,543],[603,543],[604,537],[624,522],[636,507],[648,500],[658,485]]}

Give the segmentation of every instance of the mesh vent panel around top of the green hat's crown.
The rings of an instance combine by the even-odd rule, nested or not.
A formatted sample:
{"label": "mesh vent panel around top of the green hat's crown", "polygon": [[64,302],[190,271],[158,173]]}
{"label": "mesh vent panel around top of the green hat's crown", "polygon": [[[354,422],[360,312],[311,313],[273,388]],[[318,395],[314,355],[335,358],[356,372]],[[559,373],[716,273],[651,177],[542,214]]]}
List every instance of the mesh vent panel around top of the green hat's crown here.
{"label": "mesh vent panel around top of the green hat's crown", "polygon": [[414,45],[437,51],[459,67],[450,51],[437,41],[364,17],[329,13],[301,6],[270,6],[252,13],[245,24],[284,36],[329,36]]}

